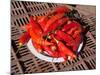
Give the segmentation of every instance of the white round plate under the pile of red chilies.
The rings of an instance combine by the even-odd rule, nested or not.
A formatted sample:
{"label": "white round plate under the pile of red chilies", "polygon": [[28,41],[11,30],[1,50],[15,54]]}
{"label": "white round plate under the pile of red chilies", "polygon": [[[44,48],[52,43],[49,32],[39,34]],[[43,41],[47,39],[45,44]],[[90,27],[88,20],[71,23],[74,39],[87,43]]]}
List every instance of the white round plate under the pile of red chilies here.
{"label": "white round plate under the pile of red chilies", "polygon": [[[45,60],[48,62],[64,62],[63,57],[53,58],[53,57],[49,57],[49,56],[46,56],[46,55],[43,55],[43,54],[37,52],[37,50],[34,48],[34,46],[32,44],[31,39],[28,41],[27,46],[28,46],[29,50],[32,52],[32,54],[34,54],[36,57],[38,57],[41,60]],[[83,46],[83,42],[80,44],[80,46],[78,48],[78,52],[80,52],[82,46]]]}

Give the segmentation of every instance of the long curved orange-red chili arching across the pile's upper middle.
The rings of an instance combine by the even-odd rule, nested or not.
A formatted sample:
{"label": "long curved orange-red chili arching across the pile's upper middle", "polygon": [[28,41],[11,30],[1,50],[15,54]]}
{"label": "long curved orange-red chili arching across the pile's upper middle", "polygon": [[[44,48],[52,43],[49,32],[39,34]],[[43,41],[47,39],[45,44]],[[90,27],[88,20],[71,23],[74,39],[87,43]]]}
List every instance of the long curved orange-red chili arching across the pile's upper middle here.
{"label": "long curved orange-red chili arching across the pile's upper middle", "polygon": [[51,24],[53,24],[55,21],[59,20],[59,19],[62,18],[63,16],[64,16],[64,13],[58,13],[58,14],[54,15],[53,17],[51,17],[51,18],[47,21],[47,23],[46,23],[46,25],[45,25],[45,27],[44,27],[44,31],[46,31],[46,30],[49,28],[49,26],[50,26]]}

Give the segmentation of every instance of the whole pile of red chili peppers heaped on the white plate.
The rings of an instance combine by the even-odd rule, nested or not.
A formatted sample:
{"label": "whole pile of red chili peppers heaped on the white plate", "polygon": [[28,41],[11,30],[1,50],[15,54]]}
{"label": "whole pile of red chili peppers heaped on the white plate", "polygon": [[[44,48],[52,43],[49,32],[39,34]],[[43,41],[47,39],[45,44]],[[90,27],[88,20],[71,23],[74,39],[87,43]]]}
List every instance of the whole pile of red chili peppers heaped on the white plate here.
{"label": "whole pile of red chili peppers heaped on the white plate", "polygon": [[30,16],[30,22],[22,27],[26,32],[19,37],[19,45],[31,38],[38,52],[73,60],[82,41],[82,29],[78,22],[66,16],[70,11],[66,6],[58,6],[45,16]]}

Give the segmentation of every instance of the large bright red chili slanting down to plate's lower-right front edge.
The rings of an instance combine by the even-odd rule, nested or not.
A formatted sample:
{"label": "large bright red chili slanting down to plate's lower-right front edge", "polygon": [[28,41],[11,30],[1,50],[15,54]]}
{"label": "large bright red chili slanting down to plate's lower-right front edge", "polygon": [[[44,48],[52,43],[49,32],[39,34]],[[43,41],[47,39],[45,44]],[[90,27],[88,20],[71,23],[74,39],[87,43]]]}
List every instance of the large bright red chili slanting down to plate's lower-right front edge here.
{"label": "large bright red chili slanting down to plate's lower-right front edge", "polygon": [[67,48],[61,41],[58,41],[57,39],[54,38],[54,40],[57,42],[58,45],[58,50],[60,52],[62,52],[63,54],[70,56],[71,59],[74,59],[76,57],[76,55],[72,52],[72,50],[70,50],[69,48]]}

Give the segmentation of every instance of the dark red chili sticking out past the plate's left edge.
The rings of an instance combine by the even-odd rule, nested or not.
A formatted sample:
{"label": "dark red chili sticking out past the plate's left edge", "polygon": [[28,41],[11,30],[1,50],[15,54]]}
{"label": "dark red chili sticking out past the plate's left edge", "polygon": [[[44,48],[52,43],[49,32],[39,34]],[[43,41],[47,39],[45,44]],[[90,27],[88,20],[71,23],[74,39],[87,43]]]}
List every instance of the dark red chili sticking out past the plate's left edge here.
{"label": "dark red chili sticking out past the plate's left edge", "polygon": [[23,45],[27,43],[29,39],[30,39],[29,33],[28,32],[24,33],[23,35],[19,37],[19,45]]}

